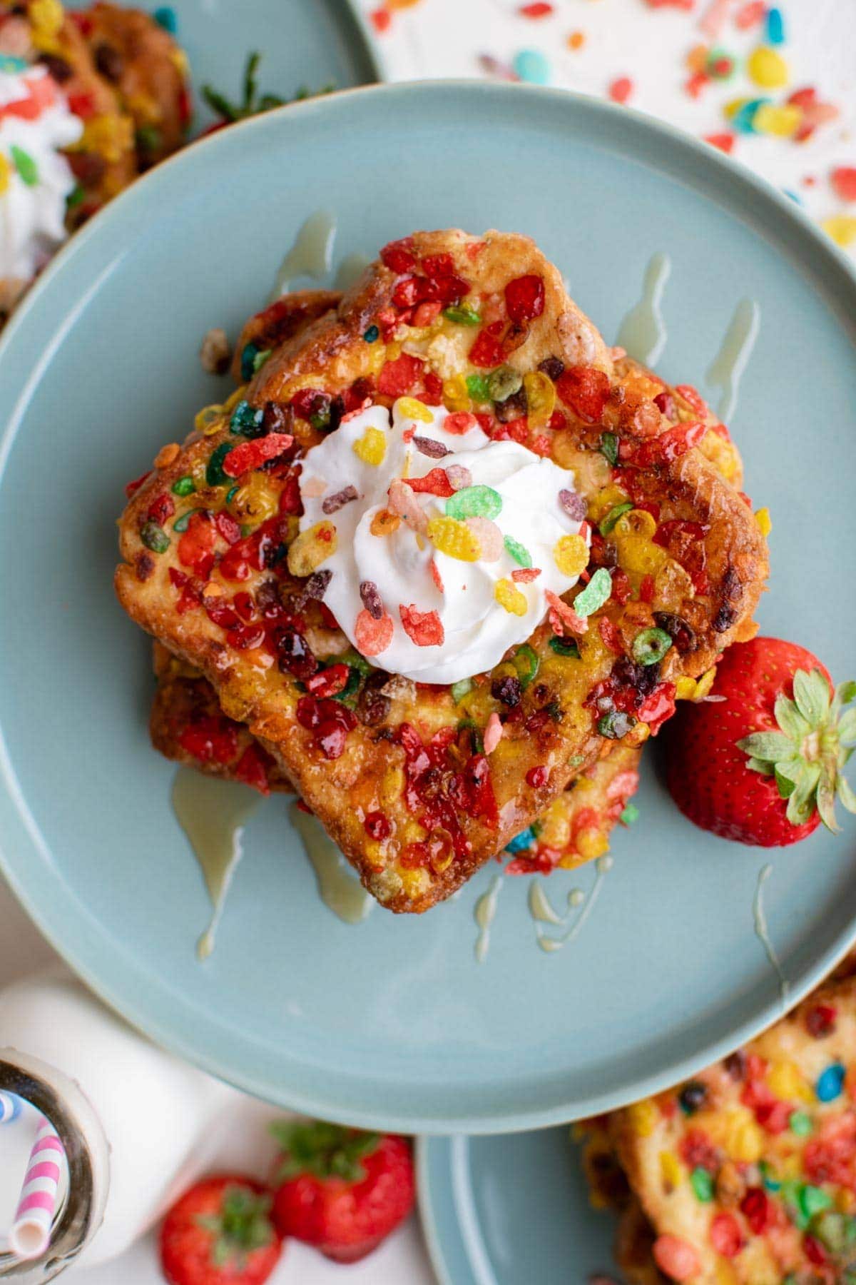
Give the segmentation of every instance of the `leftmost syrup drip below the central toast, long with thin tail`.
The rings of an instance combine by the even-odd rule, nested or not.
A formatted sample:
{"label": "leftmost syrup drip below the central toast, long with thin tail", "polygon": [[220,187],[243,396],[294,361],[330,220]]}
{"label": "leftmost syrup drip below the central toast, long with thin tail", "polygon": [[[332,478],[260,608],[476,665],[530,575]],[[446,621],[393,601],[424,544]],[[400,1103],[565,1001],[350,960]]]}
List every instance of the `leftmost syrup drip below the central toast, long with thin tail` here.
{"label": "leftmost syrup drip below the central toast, long with thin tail", "polygon": [[176,772],[172,810],[194,849],[213,906],[210,923],[196,944],[200,960],[214,950],[228,887],[244,856],[244,824],[261,802],[261,794],[248,785],[203,776],[193,767]]}

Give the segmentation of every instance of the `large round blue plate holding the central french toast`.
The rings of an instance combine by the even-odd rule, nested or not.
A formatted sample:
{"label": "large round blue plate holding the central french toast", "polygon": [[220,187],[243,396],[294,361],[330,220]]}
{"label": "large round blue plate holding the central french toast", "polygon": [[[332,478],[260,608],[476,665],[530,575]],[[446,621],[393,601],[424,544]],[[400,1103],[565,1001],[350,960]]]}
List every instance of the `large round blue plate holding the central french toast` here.
{"label": "large round blue plate holding the central french toast", "polygon": [[[320,206],[339,218],[336,260],[413,227],[530,233],[610,338],[666,251],[660,365],[702,388],[735,306],[756,301],[733,423],[773,510],[760,618],[850,676],[856,283],[842,256],[787,198],[626,109],[454,82],[332,95],[155,170],[59,256],[3,339],[5,869],[113,1005],[263,1097],[422,1132],[599,1112],[689,1076],[782,1006],[753,932],[766,855],[684,821],[652,756],[642,817],[562,951],[538,948],[527,880],[508,879],[476,964],[474,906],[495,866],[420,919],[340,923],[272,801],[248,825],[213,959],[194,955],[205,892],[148,743],[149,644],[113,599],[114,522],[123,483],[223,396],[200,337],[237,332]],[[771,857],[764,908],[793,1001],[856,937],[847,821]],[[563,910],[595,879],[547,888]]]}

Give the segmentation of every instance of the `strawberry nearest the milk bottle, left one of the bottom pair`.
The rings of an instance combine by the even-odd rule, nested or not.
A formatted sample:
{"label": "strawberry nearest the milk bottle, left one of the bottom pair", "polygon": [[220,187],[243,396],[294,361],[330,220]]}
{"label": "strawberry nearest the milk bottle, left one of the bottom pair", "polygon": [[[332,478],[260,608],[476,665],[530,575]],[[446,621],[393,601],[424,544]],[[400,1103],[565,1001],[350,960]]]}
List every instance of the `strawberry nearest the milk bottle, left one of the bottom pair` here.
{"label": "strawberry nearest the milk bottle, left one of the bottom pair", "polygon": [[253,1178],[204,1178],[160,1227],[160,1266],[169,1285],[263,1285],[282,1253],[271,1196]]}

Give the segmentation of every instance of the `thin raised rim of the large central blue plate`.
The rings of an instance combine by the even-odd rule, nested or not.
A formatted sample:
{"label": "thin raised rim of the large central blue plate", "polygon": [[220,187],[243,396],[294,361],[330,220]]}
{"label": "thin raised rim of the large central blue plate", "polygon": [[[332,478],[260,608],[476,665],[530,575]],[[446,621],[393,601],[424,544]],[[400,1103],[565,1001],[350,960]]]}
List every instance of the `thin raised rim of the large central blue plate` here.
{"label": "thin raised rim of the large central blue plate", "polygon": [[[810,248],[812,248],[816,256],[819,256],[817,262],[820,262],[824,270],[834,267],[835,271],[841,274],[841,278],[835,279],[839,289],[850,289],[856,298],[856,269],[853,269],[846,256],[791,198],[779,193],[775,188],[767,184],[766,180],[752,173],[739,162],[674,126],[666,125],[665,122],[657,121],[631,108],[601,102],[588,95],[561,89],[504,85],[489,81],[456,78],[436,81],[403,81],[393,85],[381,84],[339,90],[321,99],[309,99],[304,103],[289,104],[284,108],[275,109],[264,113],[263,116],[231,126],[228,131],[221,131],[219,134],[207,139],[198,140],[181,153],[158,166],[141,181],[133,184],[114,202],[105,207],[105,209],[91,220],[81,233],[68,240],[56,258],[42,274],[41,279],[36,283],[35,288],[30,292],[30,296],[22,307],[15,312],[4,335],[0,338],[0,361],[5,357],[10,343],[14,341],[14,337],[23,326],[33,307],[41,301],[46,292],[53,289],[53,283],[58,276],[60,276],[60,274],[63,274],[65,263],[72,262],[76,256],[82,254],[92,238],[100,235],[101,227],[109,227],[117,224],[124,217],[126,209],[132,213],[136,203],[146,200],[150,190],[155,190],[158,184],[167,181],[166,176],[172,173],[171,167],[175,168],[176,166],[182,167],[193,164],[193,157],[199,154],[199,149],[218,148],[225,137],[232,136],[237,130],[254,130],[258,134],[263,134],[263,131],[276,132],[281,128],[281,121],[286,117],[289,120],[293,118],[295,127],[299,128],[300,121],[307,117],[338,113],[341,109],[343,102],[350,107],[353,105],[354,99],[358,102],[377,98],[381,98],[382,100],[400,100],[413,95],[430,98],[431,95],[448,95],[450,93],[463,94],[465,96],[479,99],[499,98],[503,100],[508,99],[511,94],[516,94],[527,99],[531,108],[536,108],[538,104],[552,100],[557,112],[570,112],[571,116],[576,116],[578,120],[583,120],[589,137],[592,137],[592,122],[597,125],[598,120],[610,118],[611,123],[615,125],[617,117],[621,117],[622,121],[629,121],[637,130],[653,135],[655,140],[660,137],[667,143],[671,149],[676,149],[681,159],[684,155],[693,158],[696,162],[702,158],[702,164],[707,167],[714,176],[719,172],[724,176],[728,184],[735,184],[737,188],[742,188],[744,193],[748,190],[762,204],[769,207],[770,203],[773,203],[773,206],[784,217],[785,226],[789,224],[791,230],[800,234],[803,239],[807,235]],[[732,217],[737,216],[733,215]],[[821,293],[825,294],[826,306],[832,307],[832,297],[825,292]],[[53,353],[49,352],[45,356],[50,359]],[[28,375],[22,377],[24,389],[32,382],[33,375],[40,370],[40,365],[41,364],[36,366],[35,371],[30,371]],[[19,392],[19,400],[21,396],[22,393]],[[5,427],[3,438],[0,438],[0,484],[3,481],[6,457],[17,436],[17,416],[13,414]],[[39,835],[39,829],[37,825],[35,825],[35,817],[27,801],[22,797],[17,797],[19,795],[19,790],[17,775],[14,772],[14,761],[9,752],[3,727],[0,727],[0,780],[3,781],[3,789],[0,790],[0,811],[12,808],[10,815],[13,820],[23,826],[24,831],[30,835],[30,840],[35,844],[36,849],[39,849],[41,835]],[[35,834],[33,828],[36,831]],[[679,1063],[669,1061],[669,1064],[658,1073],[649,1074],[643,1081],[633,1081],[630,1083],[625,1082],[621,1088],[601,1096],[598,1096],[594,1091],[585,1097],[579,1095],[576,1097],[571,1097],[570,1101],[566,1099],[562,1101],[554,1101],[551,1097],[551,1103],[548,1105],[527,1105],[525,1108],[517,1106],[513,1110],[506,1108],[502,1101],[494,1100],[490,1109],[488,1109],[484,1114],[476,1115],[474,1115],[472,1112],[448,1114],[448,1106],[445,1108],[447,1113],[444,1113],[444,1109],[439,1106],[427,1114],[411,1113],[408,1110],[391,1113],[382,1112],[372,1108],[367,1099],[362,1103],[349,1100],[348,1094],[349,1091],[353,1092],[353,1090],[350,1090],[350,1083],[345,1083],[341,1090],[336,1090],[335,1087],[331,1090],[330,1086],[322,1086],[321,1088],[314,1087],[308,1092],[295,1092],[294,1090],[285,1087],[282,1082],[284,1076],[287,1074],[287,1067],[284,1068],[284,1073],[277,1077],[272,1074],[268,1076],[264,1072],[259,1076],[254,1076],[252,1067],[241,1065],[240,1056],[230,1060],[222,1047],[219,1047],[219,1050],[214,1050],[210,1047],[194,1046],[191,1037],[185,1034],[181,1028],[177,1028],[175,1023],[171,1025],[169,1022],[164,1019],[163,1013],[158,1011],[157,1001],[151,1006],[148,1006],[146,1002],[140,1000],[139,995],[133,996],[132,993],[128,993],[132,988],[128,988],[126,982],[116,983],[113,977],[108,975],[109,969],[104,966],[104,960],[101,959],[99,961],[98,957],[99,946],[103,950],[103,938],[99,938],[99,944],[96,944],[92,950],[87,946],[86,937],[83,935],[81,938],[80,929],[69,929],[63,910],[55,905],[51,906],[50,900],[40,897],[39,889],[45,885],[45,882],[40,882],[35,878],[35,875],[28,875],[27,862],[22,862],[19,857],[8,853],[6,843],[8,840],[5,835],[0,838],[0,870],[5,874],[9,885],[30,917],[36,923],[40,932],[54,946],[58,953],[65,959],[69,966],[83,978],[83,980],[104,1000],[104,1002],[107,1002],[116,1011],[121,1013],[126,1020],[144,1031],[150,1038],[162,1043],[164,1047],[171,1049],[180,1056],[184,1056],[189,1061],[201,1067],[210,1074],[217,1076],[226,1082],[237,1083],[249,1092],[254,1092],[268,1100],[278,1101],[282,1105],[287,1104],[293,1109],[304,1110],[308,1114],[320,1114],[322,1117],[340,1119],[350,1124],[371,1128],[397,1128],[404,1132],[424,1132],[431,1135],[448,1135],[456,1131],[467,1131],[468,1133],[507,1133],[565,1124],[572,1119],[598,1114],[601,1112],[625,1105],[638,1097],[649,1096],[651,1094],[656,1094],[670,1085],[692,1076],[701,1067],[719,1060],[728,1052],[733,1051],[733,1049],[744,1043],[747,1040],[753,1038],[760,1031],[769,1027],[782,1015],[783,1011],[785,1011],[785,1006],[783,1006],[780,1001],[770,1000],[767,1004],[760,1006],[756,1016],[747,1019],[739,1027],[732,1028],[729,1034],[705,1043],[703,1047],[699,1047],[692,1056],[684,1058]],[[62,869],[54,869],[51,874],[51,883],[54,889],[59,887],[60,892],[63,892],[64,878]],[[63,900],[67,903],[65,896]],[[839,933],[839,935],[823,953],[814,959],[811,966],[806,968],[800,983],[794,984],[789,991],[787,1009],[798,1004],[800,1000],[807,995],[838,962],[838,960],[843,957],[855,941],[856,917],[850,921],[847,928]],[[128,966],[137,970],[140,969],[140,965],[136,962],[132,965],[126,962],[122,964],[122,969],[127,969]],[[121,973],[122,969],[117,968],[116,971]],[[216,1041],[210,1038],[203,1040],[203,1045],[213,1045],[214,1042]]]}

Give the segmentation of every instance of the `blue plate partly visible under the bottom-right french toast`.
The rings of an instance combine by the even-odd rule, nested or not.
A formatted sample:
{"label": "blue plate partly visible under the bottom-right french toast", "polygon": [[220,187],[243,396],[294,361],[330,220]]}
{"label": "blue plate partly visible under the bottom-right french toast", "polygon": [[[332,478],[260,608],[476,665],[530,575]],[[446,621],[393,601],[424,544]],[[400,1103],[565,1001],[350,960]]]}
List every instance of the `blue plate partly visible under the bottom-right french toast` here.
{"label": "blue plate partly visible under the bottom-right french toast", "polygon": [[616,1218],[589,1205],[567,1128],[420,1139],[420,1213],[440,1285],[612,1279]]}

